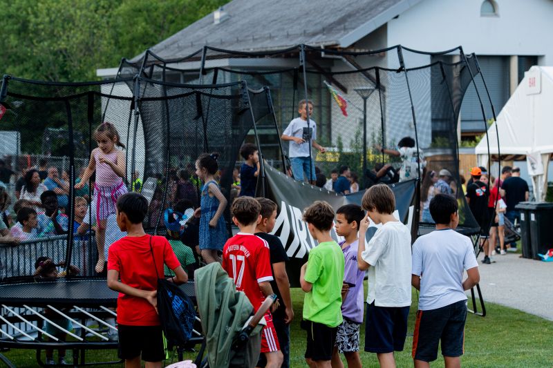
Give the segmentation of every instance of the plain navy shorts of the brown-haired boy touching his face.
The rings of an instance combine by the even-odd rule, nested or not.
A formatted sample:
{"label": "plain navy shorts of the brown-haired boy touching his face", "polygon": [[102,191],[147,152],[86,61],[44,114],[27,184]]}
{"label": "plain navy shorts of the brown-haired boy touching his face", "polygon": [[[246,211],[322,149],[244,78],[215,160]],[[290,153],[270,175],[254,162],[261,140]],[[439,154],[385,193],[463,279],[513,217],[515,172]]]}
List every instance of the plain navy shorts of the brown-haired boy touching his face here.
{"label": "plain navy shorts of the brown-haired boy touching his face", "polygon": [[407,307],[377,307],[367,305],[365,351],[393,353],[402,351],[407,336]]}

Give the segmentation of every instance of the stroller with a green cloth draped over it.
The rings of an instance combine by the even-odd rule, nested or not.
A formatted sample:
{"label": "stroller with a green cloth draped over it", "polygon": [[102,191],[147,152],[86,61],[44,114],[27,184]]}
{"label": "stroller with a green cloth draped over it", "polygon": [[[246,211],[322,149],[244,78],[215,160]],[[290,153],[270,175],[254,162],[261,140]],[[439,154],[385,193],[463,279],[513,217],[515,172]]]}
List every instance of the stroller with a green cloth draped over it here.
{"label": "stroller with a green cloth draped over it", "polygon": [[[221,264],[213,262],[196,270],[196,300],[204,340],[196,365],[205,367],[255,367],[261,350],[263,316],[276,300],[268,296],[252,316],[254,308],[245,293]],[[207,358],[203,358],[207,349]]]}

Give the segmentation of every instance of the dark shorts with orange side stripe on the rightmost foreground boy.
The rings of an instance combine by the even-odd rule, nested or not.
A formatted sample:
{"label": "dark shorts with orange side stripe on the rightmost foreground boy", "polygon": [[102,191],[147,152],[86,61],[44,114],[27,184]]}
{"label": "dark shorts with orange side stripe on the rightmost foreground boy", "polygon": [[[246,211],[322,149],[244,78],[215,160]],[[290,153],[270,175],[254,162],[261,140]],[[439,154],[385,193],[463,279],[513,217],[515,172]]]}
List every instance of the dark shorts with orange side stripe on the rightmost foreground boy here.
{"label": "dark shorts with orange side stripe on the rightmost foreground boy", "polygon": [[417,311],[413,333],[413,359],[432,362],[438,358],[438,343],[442,355],[462,356],[465,342],[467,300],[460,300],[442,308]]}

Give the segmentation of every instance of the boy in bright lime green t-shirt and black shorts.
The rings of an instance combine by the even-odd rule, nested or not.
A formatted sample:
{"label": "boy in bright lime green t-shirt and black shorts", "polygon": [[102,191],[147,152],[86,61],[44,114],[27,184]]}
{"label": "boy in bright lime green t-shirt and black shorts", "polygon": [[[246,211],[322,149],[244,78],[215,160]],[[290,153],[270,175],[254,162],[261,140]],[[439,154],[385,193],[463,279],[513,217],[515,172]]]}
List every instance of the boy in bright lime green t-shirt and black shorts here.
{"label": "boy in bright lime green t-shirt and black shorts", "polygon": [[306,209],[303,220],[319,245],[309,252],[301,267],[299,282],[306,292],[303,301],[303,329],[307,330],[306,362],[309,367],[330,367],[332,349],[341,318],[341,288],[344,254],[330,236],[334,210],[324,201]]}

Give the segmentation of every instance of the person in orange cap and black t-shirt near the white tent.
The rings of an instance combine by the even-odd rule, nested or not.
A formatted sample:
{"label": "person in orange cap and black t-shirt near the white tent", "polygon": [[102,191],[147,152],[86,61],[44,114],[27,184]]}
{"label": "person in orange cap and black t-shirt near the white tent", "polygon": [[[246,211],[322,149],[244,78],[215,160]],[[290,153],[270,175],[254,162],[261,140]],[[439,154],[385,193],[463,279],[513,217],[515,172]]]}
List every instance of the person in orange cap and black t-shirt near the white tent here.
{"label": "person in orange cap and black t-shirt near the white tent", "polygon": [[471,209],[472,215],[476,219],[476,222],[480,225],[480,240],[484,246],[484,262],[490,264],[492,262],[491,250],[493,247],[489,246],[487,238],[489,236],[489,187],[487,184],[480,182],[482,176],[482,170],[479,167],[471,168],[472,182],[467,186],[467,203]]}

